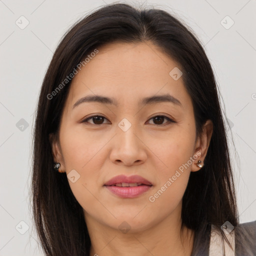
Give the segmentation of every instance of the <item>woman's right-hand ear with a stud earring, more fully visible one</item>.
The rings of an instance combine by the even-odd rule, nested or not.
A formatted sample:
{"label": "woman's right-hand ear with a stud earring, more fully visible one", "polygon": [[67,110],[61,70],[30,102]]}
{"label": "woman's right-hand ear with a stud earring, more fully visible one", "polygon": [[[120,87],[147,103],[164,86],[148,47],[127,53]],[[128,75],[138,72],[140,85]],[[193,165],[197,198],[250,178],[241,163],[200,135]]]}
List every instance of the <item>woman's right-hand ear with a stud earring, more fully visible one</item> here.
{"label": "woman's right-hand ear with a stud earring, more fully visible one", "polygon": [[197,155],[197,158],[194,157],[195,160],[192,163],[191,171],[197,171],[201,169],[201,167],[198,167],[196,163],[198,162],[198,160],[200,160],[203,164],[204,158],[207,154],[208,147],[210,144],[212,132],[213,132],[212,121],[206,120],[206,122],[202,127],[202,134],[198,136],[196,140],[196,146],[195,146],[193,155]]}

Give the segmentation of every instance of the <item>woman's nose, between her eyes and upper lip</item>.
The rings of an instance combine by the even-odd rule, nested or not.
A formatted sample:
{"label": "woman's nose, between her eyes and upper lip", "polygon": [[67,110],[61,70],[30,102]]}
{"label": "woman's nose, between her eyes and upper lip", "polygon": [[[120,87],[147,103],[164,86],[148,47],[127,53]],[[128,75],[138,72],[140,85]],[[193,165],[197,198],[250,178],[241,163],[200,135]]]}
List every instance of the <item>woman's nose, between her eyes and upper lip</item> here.
{"label": "woman's nose, between her eyes and upper lip", "polygon": [[138,132],[131,125],[126,131],[118,126],[113,138],[113,146],[110,152],[110,160],[121,165],[139,165],[145,162],[146,145]]}

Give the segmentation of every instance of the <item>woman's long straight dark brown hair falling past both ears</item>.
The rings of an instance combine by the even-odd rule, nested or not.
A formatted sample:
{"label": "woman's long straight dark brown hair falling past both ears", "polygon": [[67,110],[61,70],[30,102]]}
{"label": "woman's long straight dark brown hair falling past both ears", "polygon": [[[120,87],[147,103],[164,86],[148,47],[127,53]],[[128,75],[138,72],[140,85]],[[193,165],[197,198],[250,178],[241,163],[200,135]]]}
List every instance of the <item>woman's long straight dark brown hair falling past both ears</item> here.
{"label": "woman's long straight dark brown hair falling past both ears", "polygon": [[[235,190],[218,88],[199,39],[188,26],[164,10],[138,9],[118,3],[100,7],[71,26],[61,38],[43,79],[34,125],[30,194],[33,221],[45,255],[79,256],[89,255],[90,251],[82,207],[69,187],[66,173],[53,170],[49,141],[49,134],[58,137],[71,80],[51,99],[47,95],[93,49],[115,41],[151,41],[160,47],[181,66],[182,79],[193,103],[196,135],[201,134],[207,119],[213,122],[204,166],[190,173],[182,198],[182,227],[195,232],[192,255],[203,255],[211,224],[224,237],[220,226],[226,220],[237,231],[236,242],[245,248],[251,246],[249,238],[245,239],[242,232],[238,232]],[[249,253],[247,251],[247,255]]]}

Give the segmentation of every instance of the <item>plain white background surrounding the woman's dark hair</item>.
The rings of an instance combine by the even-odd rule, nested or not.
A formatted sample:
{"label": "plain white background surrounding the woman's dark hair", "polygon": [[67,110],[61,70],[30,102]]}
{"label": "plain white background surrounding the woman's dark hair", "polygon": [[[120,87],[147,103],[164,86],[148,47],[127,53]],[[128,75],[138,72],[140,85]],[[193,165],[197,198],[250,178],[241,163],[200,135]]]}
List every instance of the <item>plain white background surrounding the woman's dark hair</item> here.
{"label": "plain white background surrounding the woman's dark hair", "polygon": [[[28,208],[39,88],[64,32],[78,18],[111,2],[0,0],[0,256],[42,255]],[[239,156],[239,160],[232,156],[232,165],[240,222],[255,220],[256,0],[125,2],[144,2],[175,13],[204,45],[231,124],[229,138],[232,135]],[[22,15],[29,21],[24,29],[15,23]],[[229,29],[221,24],[227,15],[234,21]],[[226,18],[222,22],[230,24]],[[21,118],[28,124],[23,131],[16,126]],[[15,228],[20,224],[25,228],[20,221],[29,227],[24,234]]]}

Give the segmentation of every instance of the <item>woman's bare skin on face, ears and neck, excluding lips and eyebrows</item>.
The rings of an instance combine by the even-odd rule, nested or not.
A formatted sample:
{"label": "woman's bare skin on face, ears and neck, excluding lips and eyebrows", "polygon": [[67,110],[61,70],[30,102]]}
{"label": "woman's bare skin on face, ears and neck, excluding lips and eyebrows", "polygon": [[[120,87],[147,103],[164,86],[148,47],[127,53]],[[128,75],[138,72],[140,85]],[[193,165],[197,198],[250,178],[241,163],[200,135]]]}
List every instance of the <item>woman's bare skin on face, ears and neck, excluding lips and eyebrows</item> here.
{"label": "woman's bare skin on face, ears and neck, excluding lips and eyebrows", "polygon": [[[188,256],[194,233],[185,227],[182,245],[182,196],[190,171],[198,171],[196,162],[205,158],[212,122],[207,120],[196,138],[192,101],[182,76],[174,80],[169,75],[172,68],[181,67],[150,41],[115,42],[98,50],[72,80],[59,138],[50,135],[61,171],[68,175],[75,169],[80,175],[74,183],[68,182],[84,211],[92,244],[90,256]],[[140,98],[165,93],[182,106],[171,102],[138,105]],[[72,109],[79,98],[89,94],[113,97],[118,107],[84,102]],[[81,122],[93,115],[105,118]],[[152,118],[157,115],[175,122]],[[127,131],[118,127],[123,118],[131,123]],[[200,156],[158,198],[149,201],[196,152]],[[153,186],[135,198],[118,197],[103,186],[118,174],[138,174]],[[118,227],[123,221],[130,228],[126,233]]]}

